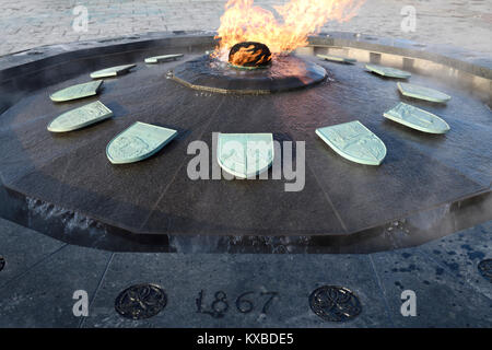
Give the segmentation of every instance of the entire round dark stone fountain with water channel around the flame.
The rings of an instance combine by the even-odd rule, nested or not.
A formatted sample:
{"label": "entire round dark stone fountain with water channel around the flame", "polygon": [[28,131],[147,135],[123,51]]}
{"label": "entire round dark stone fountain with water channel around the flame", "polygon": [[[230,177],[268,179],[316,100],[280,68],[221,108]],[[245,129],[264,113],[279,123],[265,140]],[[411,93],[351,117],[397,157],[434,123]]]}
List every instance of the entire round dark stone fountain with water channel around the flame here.
{"label": "entire round dark stone fountain with water channel around the flame", "polygon": [[[375,252],[492,219],[490,59],[352,34],[309,42],[282,66],[292,68],[280,70],[284,74],[276,62],[268,72],[246,73],[203,65],[210,60],[203,52],[215,46],[204,33],[154,33],[2,57],[0,214],[66,242],[144,252]],[[165,54],[185,57],[143,62]],[[316,54],[358,62],[323,61]],[[410,71],[412,83],[452,100],[408,100],[396,80],[367,72],[368,62]],[[92,71],[128,63],[137,67],[106,79],[97,96],[49,100],[55,91],[90,81]],[[56,116],[96,100],[113,110],[112,119],[65,135],[47,131]],[[401,101],[441,116],[450,130],[430,136],[386,120],[383,113]],[[342,159],[315,133],[353,120],[386,144],[379,166]],[[145,161],[110,164],[107,143],[134,121],[178,136]],[[208,147],[212,177],[219,131],[271,132],[282,147],[278,155],[290,152],[284,141],[293,141],[294,162],[305,155],[302,190],[286,191],[294,179],[272,179],[271,171],[268,180],[191,179],[196,154],[189,144]]]}

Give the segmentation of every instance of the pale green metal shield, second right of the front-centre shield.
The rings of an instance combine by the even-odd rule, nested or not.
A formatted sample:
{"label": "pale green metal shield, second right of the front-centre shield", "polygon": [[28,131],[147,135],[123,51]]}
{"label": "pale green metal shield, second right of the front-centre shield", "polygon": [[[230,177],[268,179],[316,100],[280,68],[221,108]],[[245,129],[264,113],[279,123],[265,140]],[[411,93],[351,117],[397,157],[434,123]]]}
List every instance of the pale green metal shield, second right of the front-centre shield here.
{"label": "pale green metal shield, second right of the front-centre shield", "polygon": [[445,133],[449,131],[447,122],[436,115],[402,102],[383,115],[385,118],[423,132]]}

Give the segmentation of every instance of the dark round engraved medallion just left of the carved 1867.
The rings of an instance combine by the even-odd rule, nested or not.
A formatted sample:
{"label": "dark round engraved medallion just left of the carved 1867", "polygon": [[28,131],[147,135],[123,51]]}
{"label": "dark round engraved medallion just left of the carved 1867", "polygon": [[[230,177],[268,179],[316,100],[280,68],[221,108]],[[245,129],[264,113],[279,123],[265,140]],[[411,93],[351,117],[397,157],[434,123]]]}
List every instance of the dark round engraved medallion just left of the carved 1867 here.
{"label": "dark round engraved medallion just left of the carved 1867", "polygon": [[136,284],[127,288],[115,301],[118,314],[130,319],[155,316],[167,304],[166,293],[155,284]]}

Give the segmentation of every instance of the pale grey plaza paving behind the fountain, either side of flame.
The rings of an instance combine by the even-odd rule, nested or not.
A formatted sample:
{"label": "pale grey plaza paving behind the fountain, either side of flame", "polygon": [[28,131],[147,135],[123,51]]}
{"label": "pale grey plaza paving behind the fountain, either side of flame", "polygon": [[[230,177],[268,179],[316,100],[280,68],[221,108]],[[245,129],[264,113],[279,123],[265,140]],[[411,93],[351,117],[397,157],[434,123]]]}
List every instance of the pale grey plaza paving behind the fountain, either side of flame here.
{"label": "pale grey plaza paving behind the fountain, either side of flame", "polygon": [[[272,10],[276,4],[285,1],[256,0],[255,4]],[[128,0],[110,2],[104,0],[68,1],[60,5],[58,0],[3,0],[0,13],[2,43],[0,55],[32,48],[39,45],[73,42],[72,23],[75,5],[85,5],[89,11],[89,31],[81,32],[80,39],[90,38],[97,27],[98,37],[120,36],[121,33],[142,33],[149,28],[165,30],[216,30],[224,11],[225,0]],[[417,14],[415,31],[401,30],[405,16],[403,5],[413,5]],[[449,2],[373,0],[360,9],[349,22],[330,21],[324,31],[345,31],[367,35],[391,36],[417,40],[425,44],[462,46],[489,55],[492,47],[490,36],[490,1]],[[163,16],[163,24],[149,24],[157,15]],[[457,16],[459,15],[459,21]],[[56,25],[54,25],[56,23]],[[129,25],[129,23],[132,23]],[[385,23],[384,26],[380,23]],[[150,26],[149,26],[150,25]],[[160,27],[162,26],[162,27]],[[9,32],[3,32],[4,28]],[[114,31],[112,32],[112,28]],[[16,32],[19,31],[20,32]],[[25,34],[26,32],[31,34]],[[36,40],[33,40],[33,36]]]}

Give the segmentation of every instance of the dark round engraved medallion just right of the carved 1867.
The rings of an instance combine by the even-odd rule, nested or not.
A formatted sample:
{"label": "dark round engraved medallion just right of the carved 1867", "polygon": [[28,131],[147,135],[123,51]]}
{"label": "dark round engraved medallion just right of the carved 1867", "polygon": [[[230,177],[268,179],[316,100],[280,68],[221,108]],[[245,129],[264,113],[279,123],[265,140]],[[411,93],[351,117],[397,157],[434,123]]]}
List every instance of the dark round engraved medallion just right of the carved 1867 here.
{"label": "dark round engraved medallion just right of the carved 1867", "polygon": [[350,290],[337,285],[324,285],[309,295],[313,312],[328,322],[348,322],[362,311],[359,298]]}

